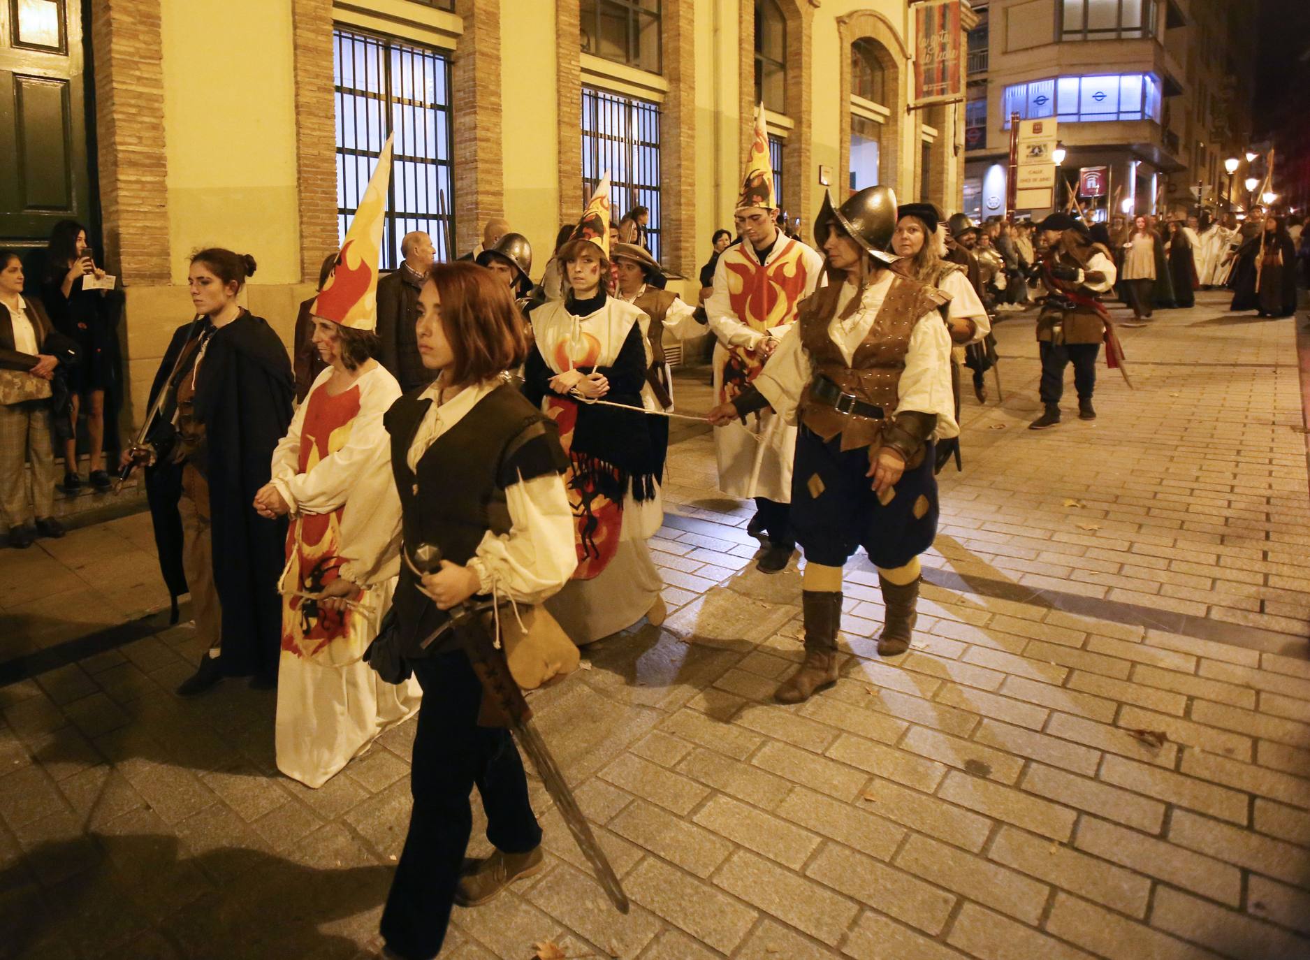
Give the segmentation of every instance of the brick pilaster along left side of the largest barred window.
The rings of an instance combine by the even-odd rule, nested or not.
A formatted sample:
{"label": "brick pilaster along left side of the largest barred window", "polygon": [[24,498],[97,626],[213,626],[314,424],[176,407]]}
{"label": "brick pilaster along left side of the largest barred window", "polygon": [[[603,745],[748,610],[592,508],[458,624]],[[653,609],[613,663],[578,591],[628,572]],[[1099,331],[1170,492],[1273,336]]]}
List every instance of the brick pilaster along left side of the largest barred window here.
{"label": "brick pilaster along left side of the largest barred window", "polygon": [[296,85],[296,181],[300,194],[300,276],[339,242],[337,228],[337,102],[333,93],[331,0],[292,0]]}

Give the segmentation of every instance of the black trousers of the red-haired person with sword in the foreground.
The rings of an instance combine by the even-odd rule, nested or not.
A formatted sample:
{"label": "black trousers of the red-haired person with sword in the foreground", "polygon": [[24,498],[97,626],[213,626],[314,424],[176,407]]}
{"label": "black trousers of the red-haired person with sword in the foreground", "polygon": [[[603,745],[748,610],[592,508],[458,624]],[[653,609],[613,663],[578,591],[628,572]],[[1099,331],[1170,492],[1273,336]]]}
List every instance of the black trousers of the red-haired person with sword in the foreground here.
{"label": "black trousers of the red-haired person with sword in the foreground", "polygon": [[510,731],[477,726],[482,685],[464,651],[410,663],[423,688],[410,769],[414,809],[381,932],[405,960],[428,960],[441,950],[451,919],[473,832],[474,785],[487,815],[487,840],[496,849],[528,853],[541,843],[541,826]]}

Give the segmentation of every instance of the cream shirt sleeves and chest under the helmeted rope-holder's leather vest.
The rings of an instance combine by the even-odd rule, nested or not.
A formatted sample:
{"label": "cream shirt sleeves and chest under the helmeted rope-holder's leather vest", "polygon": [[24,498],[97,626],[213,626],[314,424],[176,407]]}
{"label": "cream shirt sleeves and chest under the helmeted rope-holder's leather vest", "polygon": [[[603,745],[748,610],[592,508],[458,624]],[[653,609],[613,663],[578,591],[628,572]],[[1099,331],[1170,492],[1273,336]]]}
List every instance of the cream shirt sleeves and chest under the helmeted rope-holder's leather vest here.
{"label": "cream shirt sleeves and chest under the helmeted rope-holder's leather vest", "polygon": [[[848,364],[872,329],[893,279],[895,274],[884,270],[865,289],[859,309],[846,320],[841,320],[841,314],[855,296],[855,287],[850,282],[842,284],[837,310],[828,323],[828,337]],[[795,427],[800,394],[812,376],[814,360],[802,346],[799,333],[793,333],[774,351],[769,365],[756,377],[755,386],[769,401],[769,406]],[[897,414],[908,410],[937,414],[934,439],[946,440],[960,435],[955,423],[955,394],[951,390],[951,337],[935,310],[920,317],[910,331],[905,369],[901,371],[896,397]]]}

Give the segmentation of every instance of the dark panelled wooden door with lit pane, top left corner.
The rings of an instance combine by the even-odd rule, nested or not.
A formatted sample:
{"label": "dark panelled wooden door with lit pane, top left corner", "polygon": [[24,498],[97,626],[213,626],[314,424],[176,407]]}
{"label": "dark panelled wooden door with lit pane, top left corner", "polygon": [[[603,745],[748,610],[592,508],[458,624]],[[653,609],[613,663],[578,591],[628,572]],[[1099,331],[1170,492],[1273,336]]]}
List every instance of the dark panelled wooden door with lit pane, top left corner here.
{"label": "dark panelled wooden door with lit pane, top left corner", "polygon": [[80,0],[0,0],[0,241],[93,232],[85,86]]}

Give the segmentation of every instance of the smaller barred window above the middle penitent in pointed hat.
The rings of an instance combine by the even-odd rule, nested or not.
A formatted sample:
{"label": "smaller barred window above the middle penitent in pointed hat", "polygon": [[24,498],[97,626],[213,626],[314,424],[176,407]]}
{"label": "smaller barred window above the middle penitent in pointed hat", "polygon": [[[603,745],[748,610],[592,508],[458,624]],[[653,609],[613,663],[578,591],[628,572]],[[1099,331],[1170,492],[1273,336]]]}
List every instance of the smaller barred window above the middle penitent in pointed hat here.
{"label": "smaller barred window above the middle penitent in pointed hat", "polygon": [[[609,172],[609,212],[617,224],[633,207],[650,211],[642,241],[660,258],[659,106],[608,90],[582,88],[584,204]],[[582,206],[578,207],[582,210]]]}

